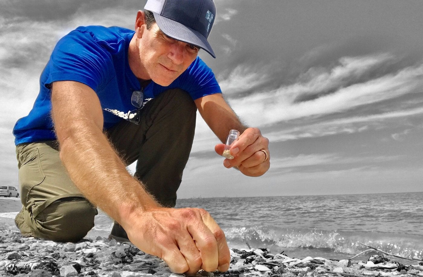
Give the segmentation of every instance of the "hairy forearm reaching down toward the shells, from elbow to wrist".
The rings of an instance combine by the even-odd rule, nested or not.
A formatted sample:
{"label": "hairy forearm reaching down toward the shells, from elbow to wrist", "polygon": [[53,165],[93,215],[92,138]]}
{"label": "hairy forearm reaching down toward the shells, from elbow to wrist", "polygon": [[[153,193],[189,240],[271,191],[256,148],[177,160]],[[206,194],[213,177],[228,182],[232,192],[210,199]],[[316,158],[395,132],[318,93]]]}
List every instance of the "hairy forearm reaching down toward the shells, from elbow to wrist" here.
{"label": "hairy forearm reaching down toward the shells, from elbow to wrist", "polygon": [[130,215],[157,206],[126,171],[101,130],[94,126],[77,128],[60,144],[60,158],[72,181],[91,203],[123,226]]}

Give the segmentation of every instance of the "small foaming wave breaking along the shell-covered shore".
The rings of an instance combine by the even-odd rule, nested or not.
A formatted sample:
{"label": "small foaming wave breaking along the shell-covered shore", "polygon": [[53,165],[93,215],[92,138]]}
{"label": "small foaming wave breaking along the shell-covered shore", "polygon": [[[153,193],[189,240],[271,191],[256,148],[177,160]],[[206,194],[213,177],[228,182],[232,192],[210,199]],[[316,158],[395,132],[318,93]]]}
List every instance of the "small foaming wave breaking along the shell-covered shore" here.
{"label": "small foaming wave breaking along the shell-covered shore", "polygon": [[224,231],[231,244],[245,246],[248,243],[253,248],[268,247],[277,251],[286,248],[308,248],[358,254],[369,249],[363,245],[367,244],[394,255],[423,258],[423,241],[421,236],[416,235],[375,231],[281,229],[271,226],[232,227]]}

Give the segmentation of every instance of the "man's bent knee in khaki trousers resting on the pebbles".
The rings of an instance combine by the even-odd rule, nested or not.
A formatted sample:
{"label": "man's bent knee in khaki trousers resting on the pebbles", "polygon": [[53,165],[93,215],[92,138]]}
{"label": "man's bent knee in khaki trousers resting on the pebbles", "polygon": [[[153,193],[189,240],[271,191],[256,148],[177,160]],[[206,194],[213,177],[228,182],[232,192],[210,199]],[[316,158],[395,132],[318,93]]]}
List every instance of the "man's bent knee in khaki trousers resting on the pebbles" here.
{"label": "man's bent knee in khaki trousers resting on the pebbles", "polygon": [[55,242],[77,242],[94,226],[97,209],[85,199],[58,200],[32,219],[33,236]]}

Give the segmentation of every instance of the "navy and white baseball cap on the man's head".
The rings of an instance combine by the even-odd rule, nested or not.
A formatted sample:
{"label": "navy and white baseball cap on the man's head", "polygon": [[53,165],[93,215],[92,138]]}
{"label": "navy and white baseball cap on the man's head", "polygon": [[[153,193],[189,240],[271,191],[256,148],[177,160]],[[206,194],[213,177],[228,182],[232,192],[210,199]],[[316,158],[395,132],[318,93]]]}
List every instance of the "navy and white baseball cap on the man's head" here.
{"label": "navy and white baseball cap on the man's head", "polygon": [[213,0],[147,0],[144,10],[153,12],[163,33],[216,55],[207,38],[213,27],[216,6]]}

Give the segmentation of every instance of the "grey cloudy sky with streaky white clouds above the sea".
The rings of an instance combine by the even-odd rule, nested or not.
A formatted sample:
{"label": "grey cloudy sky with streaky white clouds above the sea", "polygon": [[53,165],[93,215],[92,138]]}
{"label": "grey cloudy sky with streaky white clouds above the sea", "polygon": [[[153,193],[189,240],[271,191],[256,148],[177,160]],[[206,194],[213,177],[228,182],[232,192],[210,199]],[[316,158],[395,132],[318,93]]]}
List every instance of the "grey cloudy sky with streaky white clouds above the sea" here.
{"label": "grey cloudy sky with streaky white clouds above the sea", "polygon": [[[79,25],[133,29],[145,1],[0,2],[0,174],[55,43]],[[423,191],[423,1],[216,0],[213,69],[270,140],[271,168],[223,167],[201,117],[179,198]],[[130,168],[134,168],[133,166]],[[106,181],[106,180],[105,180]],[[107,181],[106,181],[107,182]]]}

